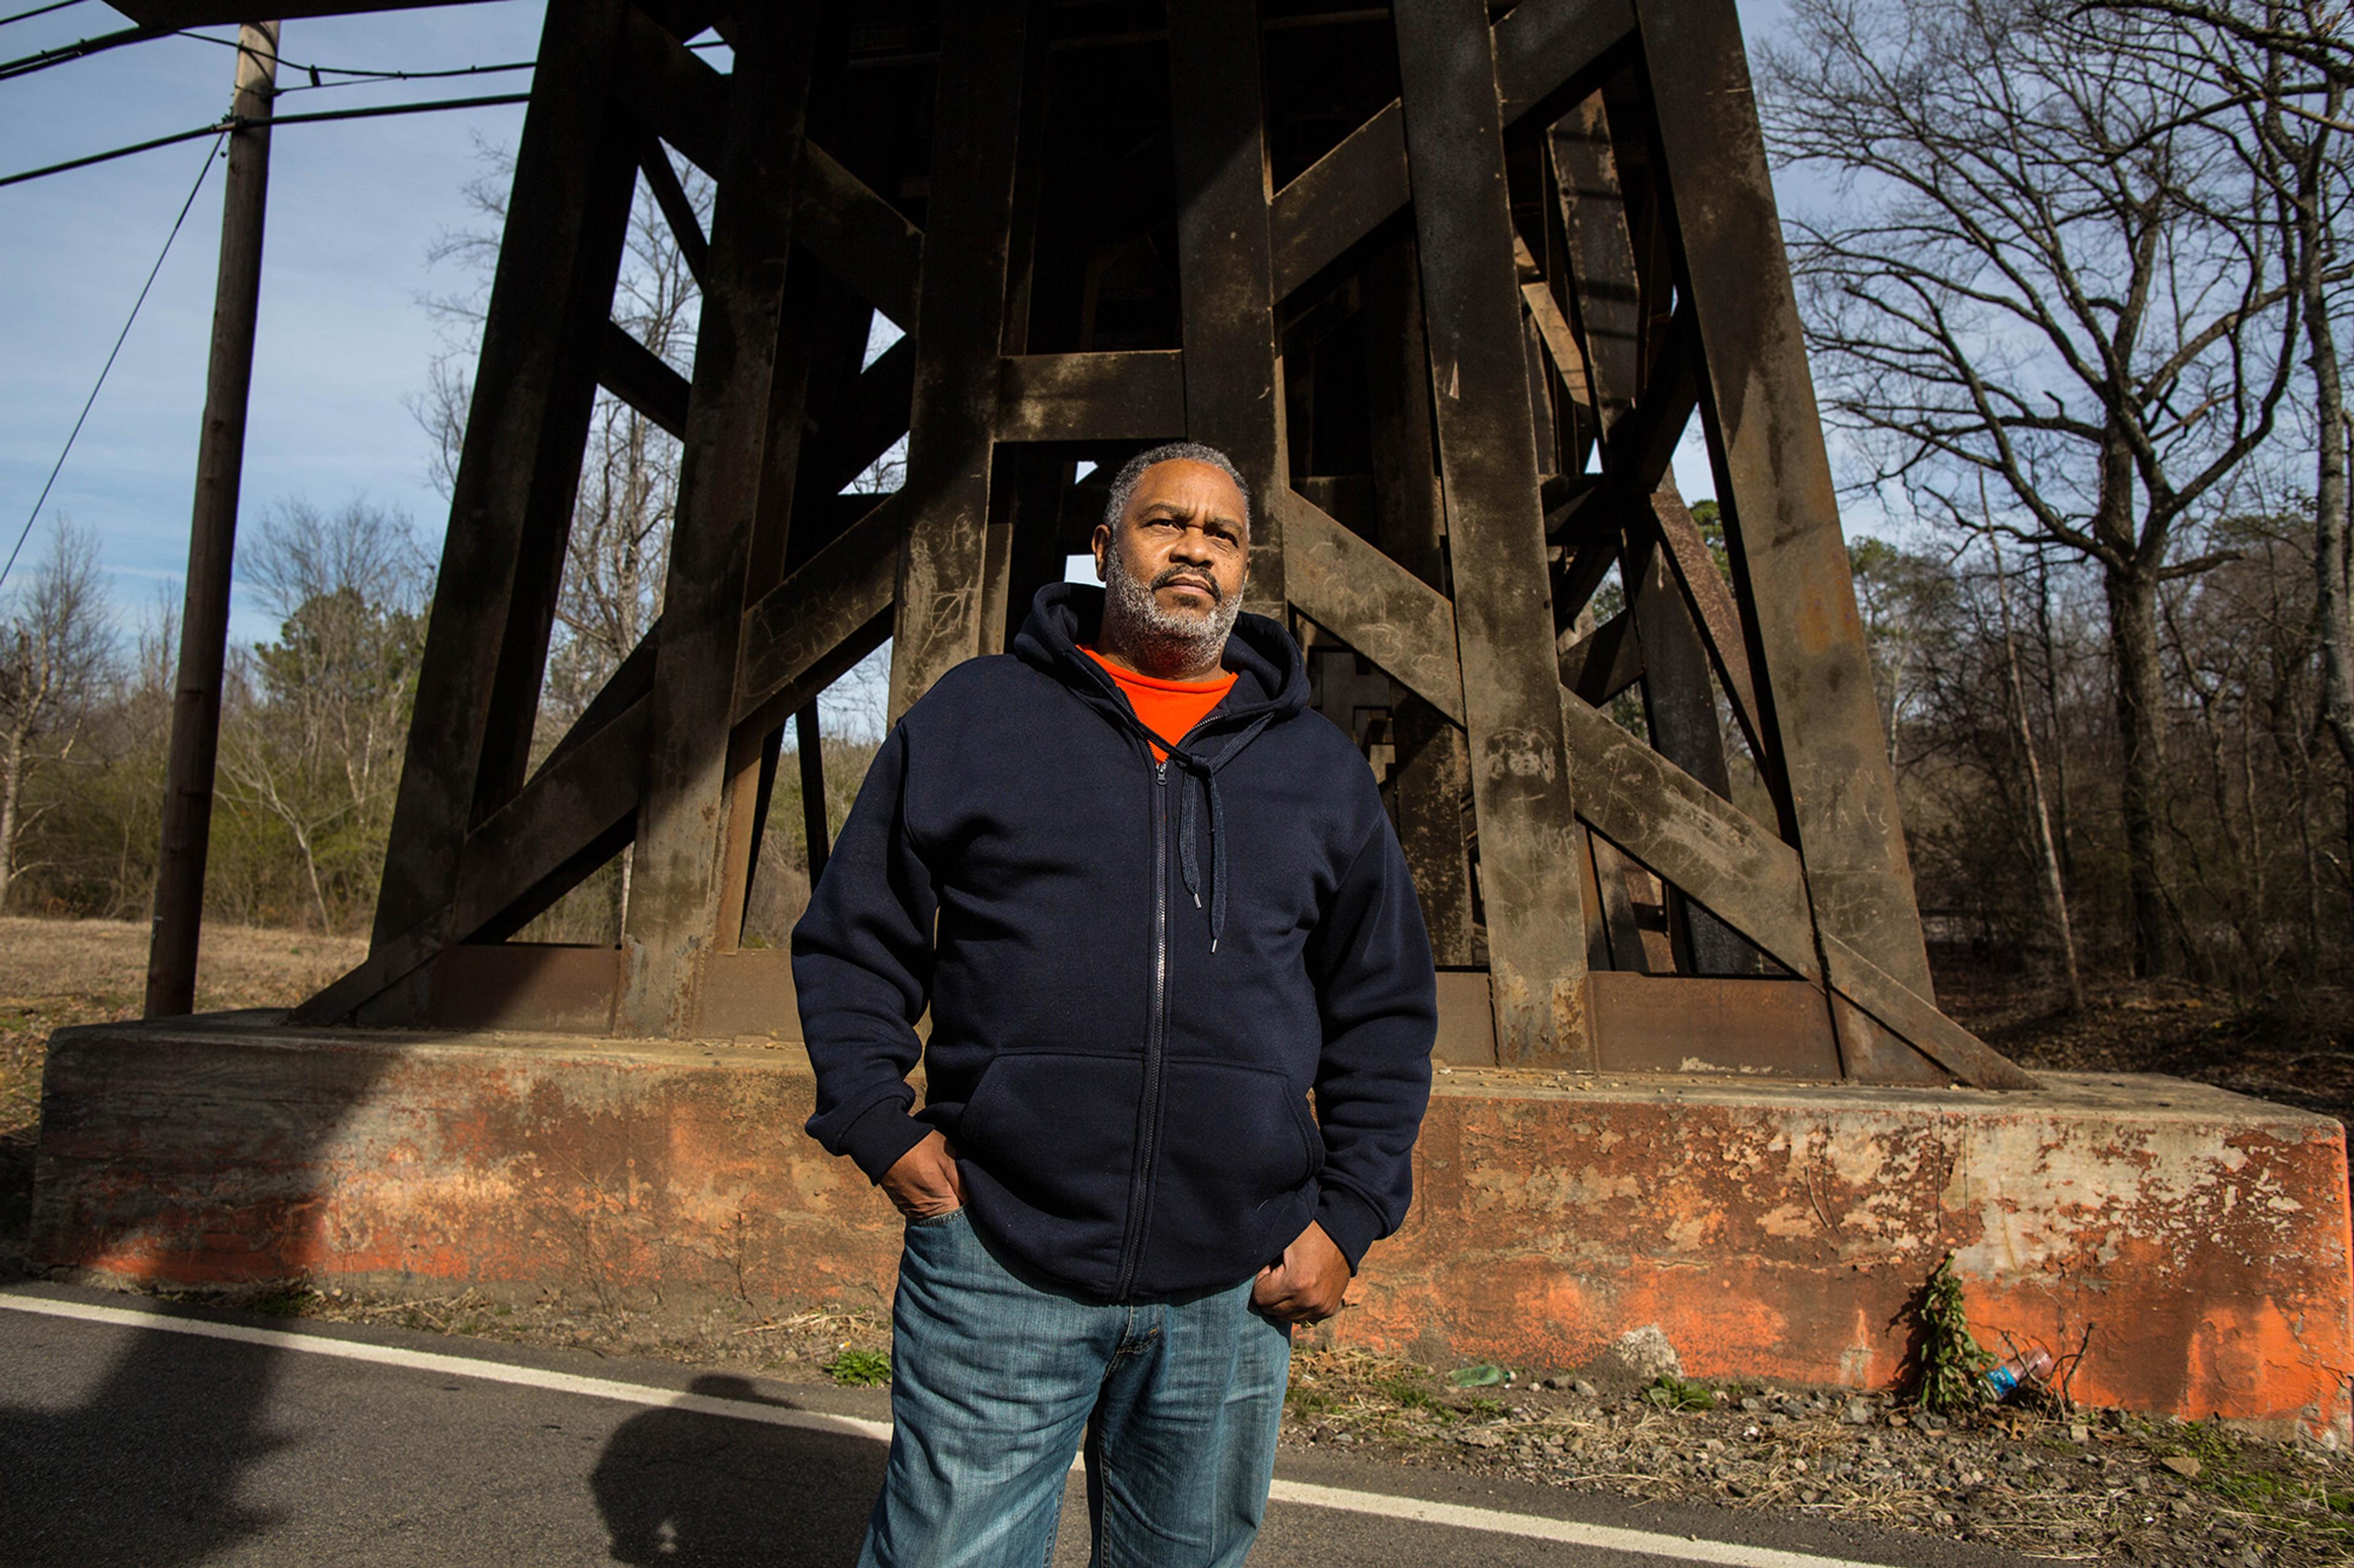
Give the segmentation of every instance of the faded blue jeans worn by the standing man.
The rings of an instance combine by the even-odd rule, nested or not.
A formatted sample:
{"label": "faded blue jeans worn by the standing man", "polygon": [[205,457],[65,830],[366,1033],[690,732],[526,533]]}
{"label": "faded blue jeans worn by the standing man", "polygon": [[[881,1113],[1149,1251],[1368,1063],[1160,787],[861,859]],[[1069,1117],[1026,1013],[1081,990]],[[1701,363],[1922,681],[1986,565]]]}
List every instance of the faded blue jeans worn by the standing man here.
{"label": "faded blue jeans worn by the standing man", "polygon": [[859,1568],[1043,1568],[1080,1441],[1097,1568],[1231,1568],[1266,1511],[1290,1363],[1250,1281],[1099,1307],[1015,1276],[963,1210],[909,1224]]}

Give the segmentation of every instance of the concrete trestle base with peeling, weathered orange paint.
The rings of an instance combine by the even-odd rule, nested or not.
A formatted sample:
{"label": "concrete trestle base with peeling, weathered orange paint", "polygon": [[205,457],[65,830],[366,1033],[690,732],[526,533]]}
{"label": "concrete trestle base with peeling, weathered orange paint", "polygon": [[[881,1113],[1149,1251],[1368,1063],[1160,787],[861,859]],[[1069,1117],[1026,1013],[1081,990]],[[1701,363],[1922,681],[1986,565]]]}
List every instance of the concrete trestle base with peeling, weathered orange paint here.
{"label": "concrete trestle base with peeling, weathered orange paint", "polygon": [[[885,1307],[899,1222],[800,1132],[793,1043],[61,1031],[33,1257],[104,1278],[558,1285]],[[1572,1368],[1657,1326],[1697,1377],[1893,1387],[1947,1253],[2074,1391],[2349,1434],[2335,1121],[2170,1078],[2024,1095],[1452,1069],[1342,1344]]]}

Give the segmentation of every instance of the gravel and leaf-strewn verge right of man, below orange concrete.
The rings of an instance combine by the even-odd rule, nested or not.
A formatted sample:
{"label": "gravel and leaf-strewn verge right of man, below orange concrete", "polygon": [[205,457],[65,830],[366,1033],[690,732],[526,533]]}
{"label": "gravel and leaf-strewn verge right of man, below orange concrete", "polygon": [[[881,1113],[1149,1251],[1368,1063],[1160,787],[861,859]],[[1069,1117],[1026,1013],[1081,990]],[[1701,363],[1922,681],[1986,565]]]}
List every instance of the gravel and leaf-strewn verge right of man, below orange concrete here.
{"label": "gravel and leaf-strewn verge right of man, below orange concrete", "polygon": [[2354,1563],[2354,1462],[2312,1443],[2116,1410],[1947,1420],[1843,1389],[1716,1387],[1711,1410],[1669,1410],[1544,1384],[1462,1394],[1408,1363],[1299,1351],[1285,1441],[2057,1561]]}

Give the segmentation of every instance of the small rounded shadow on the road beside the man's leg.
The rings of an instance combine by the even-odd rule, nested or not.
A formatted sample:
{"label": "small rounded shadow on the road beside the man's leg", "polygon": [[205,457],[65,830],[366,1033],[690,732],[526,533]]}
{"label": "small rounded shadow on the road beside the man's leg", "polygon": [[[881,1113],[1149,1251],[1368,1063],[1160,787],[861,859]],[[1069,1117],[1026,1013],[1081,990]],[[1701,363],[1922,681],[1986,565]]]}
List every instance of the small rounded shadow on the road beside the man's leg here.
{"label": "small rounded shadow on the road beside the man's leg", "polygon": [[[742,1377],[694,1394],[791,1408]],[[605,1443],[588,1479],[619,1563],[855,1563],[883,1486],[883,1446],[822,1431],[647,1410]]]}

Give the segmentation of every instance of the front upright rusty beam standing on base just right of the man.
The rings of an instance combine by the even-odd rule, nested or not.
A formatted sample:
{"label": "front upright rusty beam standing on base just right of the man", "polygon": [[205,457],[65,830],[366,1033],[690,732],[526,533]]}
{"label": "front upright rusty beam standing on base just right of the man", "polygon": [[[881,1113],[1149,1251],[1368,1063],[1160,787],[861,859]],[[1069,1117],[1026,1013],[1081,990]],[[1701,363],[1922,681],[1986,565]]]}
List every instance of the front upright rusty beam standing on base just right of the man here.
{"label": "front upright rusty beam standing on base just right of the man", "polygon": [[1547,603],[1495,42],[1481,0],[1403,0],[1396,31],[1497,1059],[1591,1067],[1577,812]]}

